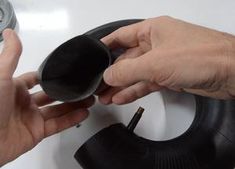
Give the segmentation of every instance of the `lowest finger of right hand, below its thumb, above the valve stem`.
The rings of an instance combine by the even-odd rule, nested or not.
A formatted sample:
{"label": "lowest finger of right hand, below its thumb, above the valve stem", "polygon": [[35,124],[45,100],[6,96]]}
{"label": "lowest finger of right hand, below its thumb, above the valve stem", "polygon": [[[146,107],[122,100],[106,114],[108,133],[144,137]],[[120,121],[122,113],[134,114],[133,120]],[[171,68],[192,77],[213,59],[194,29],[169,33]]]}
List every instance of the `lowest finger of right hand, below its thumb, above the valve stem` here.
{"label": "lowest finger of right hand, below its thumb, above the valve stem", "polygon": [[118,105],[131,103],[160,89],[161,86],[155,83],[142,81],[115,94],[112,98],[112,102]]}

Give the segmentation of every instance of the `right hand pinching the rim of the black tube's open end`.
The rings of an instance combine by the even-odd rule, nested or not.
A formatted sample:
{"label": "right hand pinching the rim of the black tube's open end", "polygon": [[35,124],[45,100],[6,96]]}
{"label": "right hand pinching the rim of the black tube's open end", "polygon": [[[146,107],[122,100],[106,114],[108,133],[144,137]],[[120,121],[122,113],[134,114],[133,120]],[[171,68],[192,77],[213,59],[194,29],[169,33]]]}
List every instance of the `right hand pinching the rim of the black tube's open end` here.
{"label": "right hand pinching the rim of the black tube's open end", "polygon": [[213,98],[235,95],[235,38],[163,16],[120,28],[103,42],[127,51],[104,73],[104,104],[125,104],[168,88]]}

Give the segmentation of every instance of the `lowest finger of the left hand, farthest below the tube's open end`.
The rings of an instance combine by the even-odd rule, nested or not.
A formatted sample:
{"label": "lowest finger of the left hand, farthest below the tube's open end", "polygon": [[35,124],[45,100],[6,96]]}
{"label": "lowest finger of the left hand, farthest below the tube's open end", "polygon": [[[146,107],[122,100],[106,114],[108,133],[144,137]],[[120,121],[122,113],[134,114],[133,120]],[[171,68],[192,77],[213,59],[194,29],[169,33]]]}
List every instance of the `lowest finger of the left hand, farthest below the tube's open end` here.
{"label": "lowest finger of the left hand, farthest below the tube's open end", "polygon": [[65,129],[77,125],[78,123],[85,120],[88,114],[88,110],[79,109],[63,116],[47,120],[45,122],[45,137],[59,133]]}

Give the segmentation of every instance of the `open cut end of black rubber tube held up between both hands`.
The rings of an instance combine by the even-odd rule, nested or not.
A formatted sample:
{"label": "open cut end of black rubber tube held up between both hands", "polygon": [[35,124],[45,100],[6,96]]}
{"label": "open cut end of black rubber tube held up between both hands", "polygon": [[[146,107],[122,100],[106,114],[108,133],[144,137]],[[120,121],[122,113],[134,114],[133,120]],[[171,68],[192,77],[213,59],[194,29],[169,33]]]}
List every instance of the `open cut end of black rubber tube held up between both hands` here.
{"label": "open cut end of black rubber tube held up between both hands", "polygon": [[110,23],[60,45],[38,70],[43,90],[51,98],[63,102],[80,101],[103,90],[103,72],[125,50],[110,51],[100,38],[118,29],[120,25],[139,21]]}

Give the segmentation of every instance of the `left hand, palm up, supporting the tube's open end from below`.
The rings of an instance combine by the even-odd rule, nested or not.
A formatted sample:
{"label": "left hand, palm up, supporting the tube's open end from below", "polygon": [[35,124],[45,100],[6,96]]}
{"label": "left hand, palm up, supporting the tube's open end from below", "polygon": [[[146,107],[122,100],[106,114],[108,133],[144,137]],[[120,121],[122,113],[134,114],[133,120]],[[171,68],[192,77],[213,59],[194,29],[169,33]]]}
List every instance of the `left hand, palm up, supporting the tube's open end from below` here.
{"label": "left hand, palm up, supporting the tube's open end from below", "polygon": [[42,139],[80,123],[94,103],[90,97],[82,102],[51,105],[45,93],[29,94],[38,84],[35,72],[12,78],[21,43],[15,32],[6,30],[0,55],[0,166],[32,149]]}

